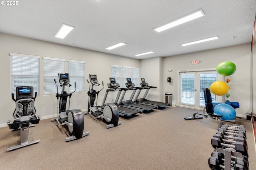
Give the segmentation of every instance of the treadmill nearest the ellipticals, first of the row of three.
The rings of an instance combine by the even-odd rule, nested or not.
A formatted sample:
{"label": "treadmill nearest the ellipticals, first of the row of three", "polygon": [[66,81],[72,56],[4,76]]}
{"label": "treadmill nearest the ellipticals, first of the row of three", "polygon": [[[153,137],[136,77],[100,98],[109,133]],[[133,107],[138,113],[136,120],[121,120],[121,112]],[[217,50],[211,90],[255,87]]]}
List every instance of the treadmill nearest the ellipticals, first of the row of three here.
{"label": "treadmill nearest the ellipticals, first of the row of three", "polygon": [[118,90],[118,94],[116,96],[116,101],[114,103],[118,107],[119,115],[121,115],[123,117],[129,117],[129,116],[135,115],[136,113],[143,112],[142,109],[138,109],[136,107],[122,106],[122,105],[118,104],[118,99],[120,97],[121,92],[126,91],[128,89],[127,88],[119,88],[120,85],[118,83],[116,83],[115,78],[111,77],[111,78],[109,78],[109,80],[110,80],[110,83],[108,83],[108,88],[113,89],[114,91]]}

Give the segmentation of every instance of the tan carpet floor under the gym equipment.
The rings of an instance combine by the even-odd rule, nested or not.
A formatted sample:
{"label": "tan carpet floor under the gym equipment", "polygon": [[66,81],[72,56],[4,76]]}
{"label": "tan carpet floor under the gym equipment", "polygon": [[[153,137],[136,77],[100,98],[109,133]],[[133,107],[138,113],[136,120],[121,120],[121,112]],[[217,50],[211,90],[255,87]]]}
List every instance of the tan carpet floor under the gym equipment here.
{"label": "tan carpet floor under the gym equipment", "polygon": [[[66,129],[44,119],[29,131],[29,141],[40,143],[11,152],[7,148],[20,144],[20,131],[2,127],[0,170],[208,170],[218,123],[212,118],[184,120],[194,112],[202,111],[168,107],[120,117],[122,124],[110,129],[84,115],[84,131],[90,134],[68,143]],[[236,123],[246,128],[249,168],[256,170],[252,123],[246,119]]]}

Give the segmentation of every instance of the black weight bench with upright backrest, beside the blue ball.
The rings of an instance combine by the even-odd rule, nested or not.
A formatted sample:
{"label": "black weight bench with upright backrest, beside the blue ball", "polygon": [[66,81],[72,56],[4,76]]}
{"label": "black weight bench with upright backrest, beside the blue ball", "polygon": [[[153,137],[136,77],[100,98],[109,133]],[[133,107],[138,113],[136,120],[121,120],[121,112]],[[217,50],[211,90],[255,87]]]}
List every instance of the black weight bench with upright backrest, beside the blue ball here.
{"label": "black weight bench with upright backrest, beside the blue ball", "polygon": [[[208,113],[208,114],[206,114],[206,113],[194,113],[192,117],[185,117],[184,119],[185,120],[202,119],[203,116],[205,118],[215,117],[216,120],[218,121],[218,126],[220,128],[221,125],[222,125],[220,117],[222,117],[222,115],[214,113],[214,109],[213,109],[214,107],[213,107],[213,104],[212,104],[212,96],[211,96],[210,89],[208,89],[208,88],[204,89],[204,102],[205,102],[206,113]],[[196,116],[196,115],[203,115],[203,116]]]}

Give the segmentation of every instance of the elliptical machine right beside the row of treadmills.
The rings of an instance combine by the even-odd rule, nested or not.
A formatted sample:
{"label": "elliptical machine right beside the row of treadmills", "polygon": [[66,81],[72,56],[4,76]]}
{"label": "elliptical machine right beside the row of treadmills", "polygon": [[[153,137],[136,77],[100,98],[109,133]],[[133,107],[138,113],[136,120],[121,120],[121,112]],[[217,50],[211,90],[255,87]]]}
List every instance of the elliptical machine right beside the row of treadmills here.
{"label": "elliptical machine right beside the row of treadmills", "polygon": [[[90,84],[90,88],[87,93],[89,96],[88,113],[93,118],[101,119],[104,123],[107,124],[107,128],[120,125],[122,123],[122,121],[119,121],[119,111],[118,111],[116,104],[114,104],[114,103],[105,104],[107,92],[102,101],[102,106],[97,106],[98,94],[104,88],[103,81],[102,81],[102,89],[100,91],[96,92],[96,90],[94,90],[93,87],[100,86],[100,84],[98,83],[97,75],[89,74],[89,77],[90,77],[90,82],[89,82],[89,80],[87,80],[87,82]],[[110,89],[108,89],[108,90],[110,90]],[[96,99],[96,95],[97,95],[96,106],[94,106],[94,101]]]}

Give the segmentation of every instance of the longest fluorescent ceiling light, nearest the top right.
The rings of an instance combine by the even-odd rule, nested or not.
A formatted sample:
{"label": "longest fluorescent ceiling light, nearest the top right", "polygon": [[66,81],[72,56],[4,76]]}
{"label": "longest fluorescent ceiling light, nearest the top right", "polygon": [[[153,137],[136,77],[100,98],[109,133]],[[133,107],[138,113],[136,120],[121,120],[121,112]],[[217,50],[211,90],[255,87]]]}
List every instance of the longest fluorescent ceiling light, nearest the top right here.
{"label": "longest fluorescent ceiling light, nearest the top right", "polygon": [[177,19],[177,20],[174,20],[174,21],[172,21],[170,23],[167,23],[166,25],[157,27],[154,30],[156,30],[157,32],[161,32],[161,31],[164,31],[166,29],[175,27],[177,25],[180,25],[182,23],[194,20],[194,19],[202,17],[202,16],[204,16],[204,12],[202,10],[199,10],[199,11],[193,12],[191,14],[188,14],[187,16],[184,16],[184,17],[182,17],[180,19]]}

